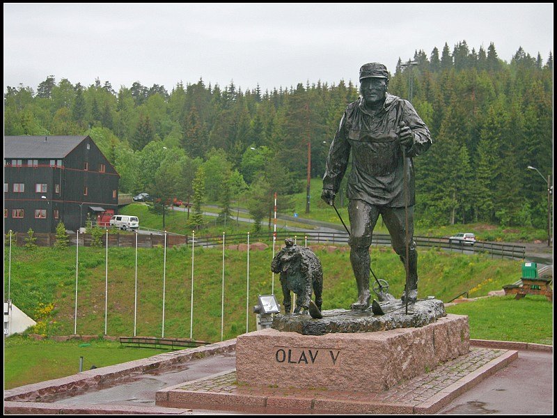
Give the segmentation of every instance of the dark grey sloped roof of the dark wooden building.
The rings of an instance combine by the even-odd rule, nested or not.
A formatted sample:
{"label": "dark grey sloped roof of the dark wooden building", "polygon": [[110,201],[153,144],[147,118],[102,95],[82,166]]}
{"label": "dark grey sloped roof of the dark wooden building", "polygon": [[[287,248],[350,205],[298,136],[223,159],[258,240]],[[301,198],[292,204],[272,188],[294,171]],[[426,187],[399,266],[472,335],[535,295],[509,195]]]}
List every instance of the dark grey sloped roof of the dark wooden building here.
{"label": "dark grey sloped roof of the dark wooden building", "polygon": [[4,137],[4,158],[63,158],[87,137]]}

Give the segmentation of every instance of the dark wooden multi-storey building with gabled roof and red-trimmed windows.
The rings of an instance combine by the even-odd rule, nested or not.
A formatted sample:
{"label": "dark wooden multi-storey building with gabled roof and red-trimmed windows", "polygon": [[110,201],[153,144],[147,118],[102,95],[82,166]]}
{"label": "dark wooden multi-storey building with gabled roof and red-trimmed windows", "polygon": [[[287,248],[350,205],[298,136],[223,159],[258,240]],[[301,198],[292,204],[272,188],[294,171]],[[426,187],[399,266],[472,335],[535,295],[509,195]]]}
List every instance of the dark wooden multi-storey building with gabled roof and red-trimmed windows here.
{"label": "dark wooden multi-storey building with gabled roof and red-trimmed windows", "polygon": [[91,137],[4,137],[4,232],[106,219],[118,213],[119,180]]}

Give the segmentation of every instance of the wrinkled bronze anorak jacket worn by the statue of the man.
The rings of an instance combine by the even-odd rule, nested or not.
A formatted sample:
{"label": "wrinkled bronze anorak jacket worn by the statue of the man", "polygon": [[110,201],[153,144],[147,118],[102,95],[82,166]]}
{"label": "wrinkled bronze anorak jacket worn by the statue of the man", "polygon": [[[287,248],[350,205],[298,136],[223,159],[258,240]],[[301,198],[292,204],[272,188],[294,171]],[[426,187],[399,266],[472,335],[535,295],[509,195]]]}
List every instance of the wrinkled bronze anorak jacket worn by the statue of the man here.
{"label": "wrinkled bronze anorak jacket worn by the statue of the man", "polygon": [[414,145],[406,150],[408,204],[414,205],[412,157],[430,148],[431,134],[410,102],[389,93],[383,108],[376,115],[363,107],[361,97],[348,104],[329,149],[323,189],[338,192],[352,150],[348,198],[372,205],[404,207],[404,162],[395,133],[401,121],[414,133]]}

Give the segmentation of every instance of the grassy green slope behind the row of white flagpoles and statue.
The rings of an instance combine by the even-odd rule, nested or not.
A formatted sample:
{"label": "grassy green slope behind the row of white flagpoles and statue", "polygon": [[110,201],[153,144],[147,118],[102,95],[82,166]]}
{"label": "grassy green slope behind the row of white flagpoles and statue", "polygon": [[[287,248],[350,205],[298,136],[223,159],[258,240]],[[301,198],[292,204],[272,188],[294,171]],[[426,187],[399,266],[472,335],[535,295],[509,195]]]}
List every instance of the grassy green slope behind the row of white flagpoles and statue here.
{"label": "grassy green slope behind the row of white flagpoles and statue", "polygon": [[[356,286],[347,251],[316,250],[324,270],[323,309],[348,308],[356,299]],[[6,260],[8,253],[5,253]],[[520,276],[520,261],[492,260],[487,256],[419,251],[420,296],[435,295],[441,300],[469,291],[470,297],[499,290]],[[166,275],[165,336],[189,337],[191,314],[191,248],[166,251],[166,272],[162,248],[138,251],[137,334],[159,336],[162,332],[163,276]],[[272,291],[269,265],[272,249],[250,251],[249,330],[256,329],[251,307],[258,294]],[[224,291],[224,339],[246,332],[247,260],[245,251],[226,250]],[[38,320],[34,332],[73,334],[76,279],[75,249],[39,247],[12,249],[10,292],[13,302]],[[372,248],[372,268],[391,285],[391,293],[402,293],[404,274],[398,256],[390,248]],[[134,274],[133,248],[109,248],[107,334],[133,334]],[[8,263],[4,277],[8,278]],[[7,280],[5,280],[5,284]],[[194,339],[219,341],[221,329],[221,249],[196,248],[194,254]],[[105,251],[79,249],[78,334],[104,332]],[[282,301],[278,275],[274,291]]]}

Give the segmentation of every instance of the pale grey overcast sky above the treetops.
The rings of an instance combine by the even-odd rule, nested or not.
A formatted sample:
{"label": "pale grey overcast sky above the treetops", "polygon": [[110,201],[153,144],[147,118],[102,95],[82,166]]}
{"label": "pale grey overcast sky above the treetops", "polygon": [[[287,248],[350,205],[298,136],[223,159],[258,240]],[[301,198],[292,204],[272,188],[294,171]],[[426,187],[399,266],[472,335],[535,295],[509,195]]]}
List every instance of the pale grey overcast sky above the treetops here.
{"label": "pale grey overcast sky above the treetops", "polygon": [[3,88],[36,91],[48,75],[116,91],[200,77],[243,91],[357,83],[363,63],[393,73],[399,57],[462,40],[476,52],[494,42],[507,62],[523,47],[545,63],[553,15],[553,3],[3,3]]}

